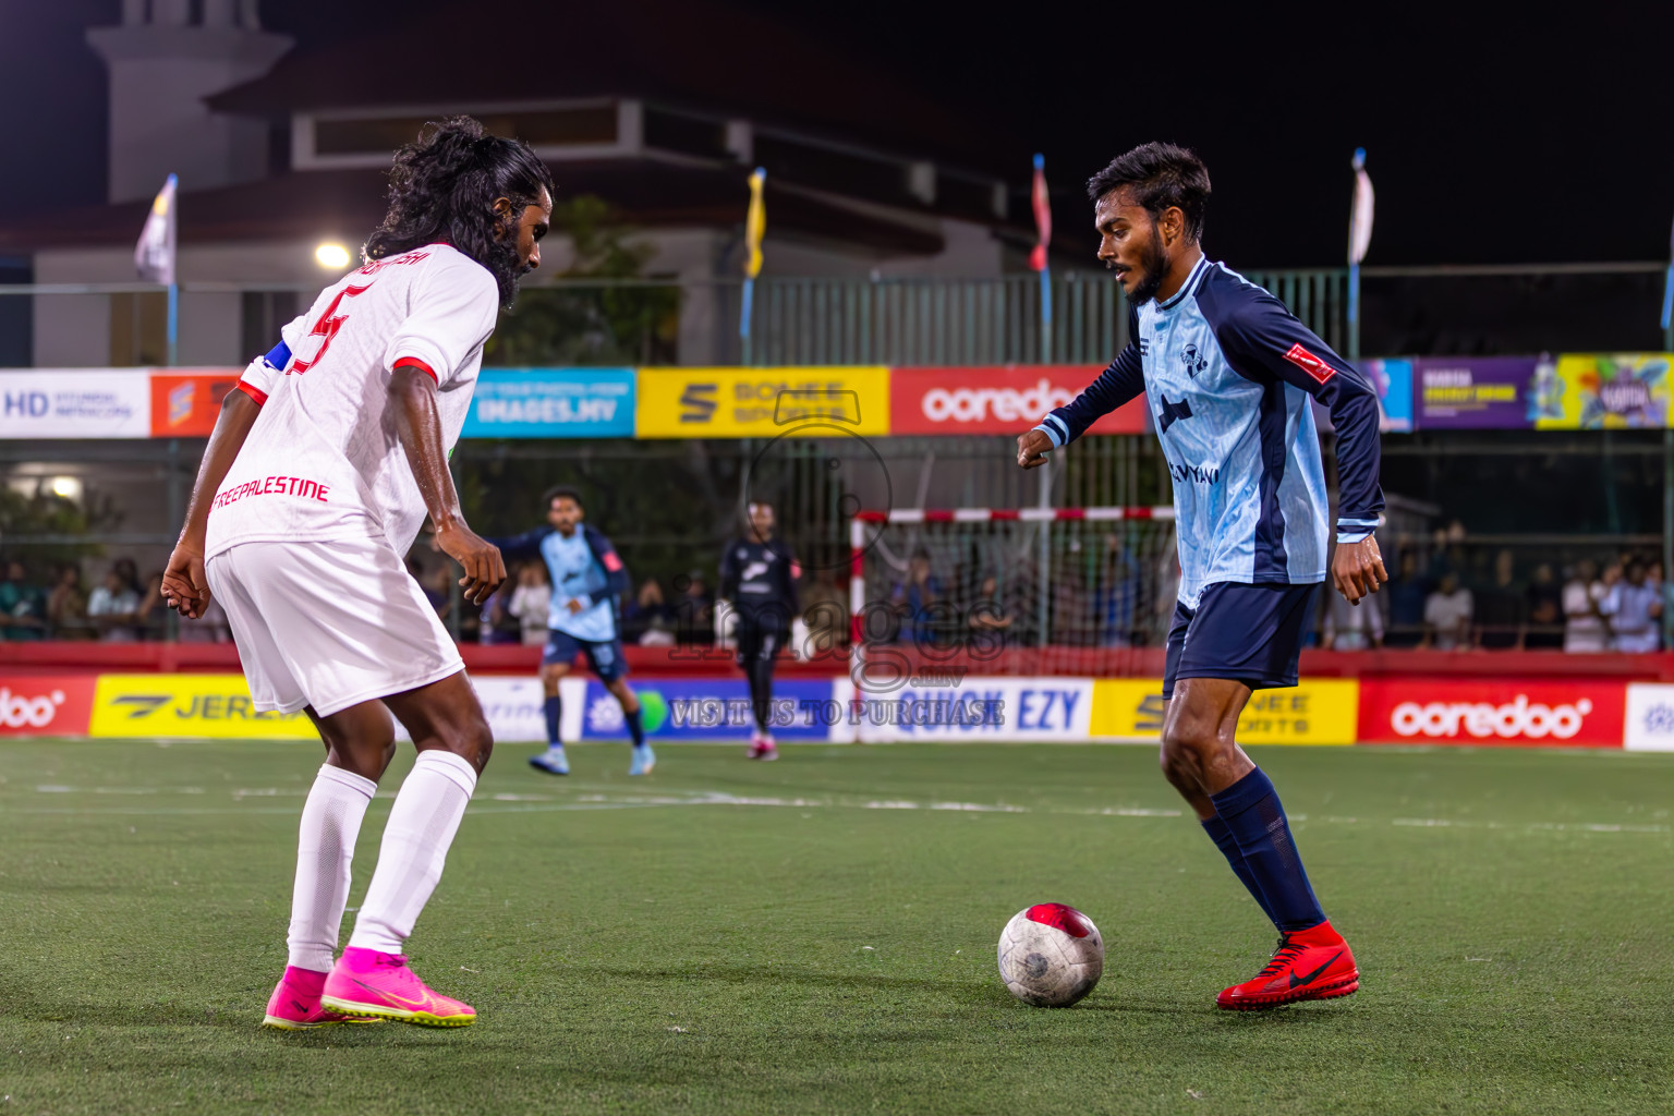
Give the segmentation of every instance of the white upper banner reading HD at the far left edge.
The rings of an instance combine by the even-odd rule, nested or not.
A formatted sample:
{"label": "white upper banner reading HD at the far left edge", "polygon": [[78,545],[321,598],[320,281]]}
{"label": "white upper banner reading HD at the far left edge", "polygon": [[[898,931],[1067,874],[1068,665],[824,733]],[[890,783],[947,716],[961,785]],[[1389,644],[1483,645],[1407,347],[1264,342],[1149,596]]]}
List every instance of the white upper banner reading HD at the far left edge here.
{"label": "white upper banner reading HD at the far left edge", "polygon": [[0,376],[0,438],[149,438],[142,368],[37,368]]}

